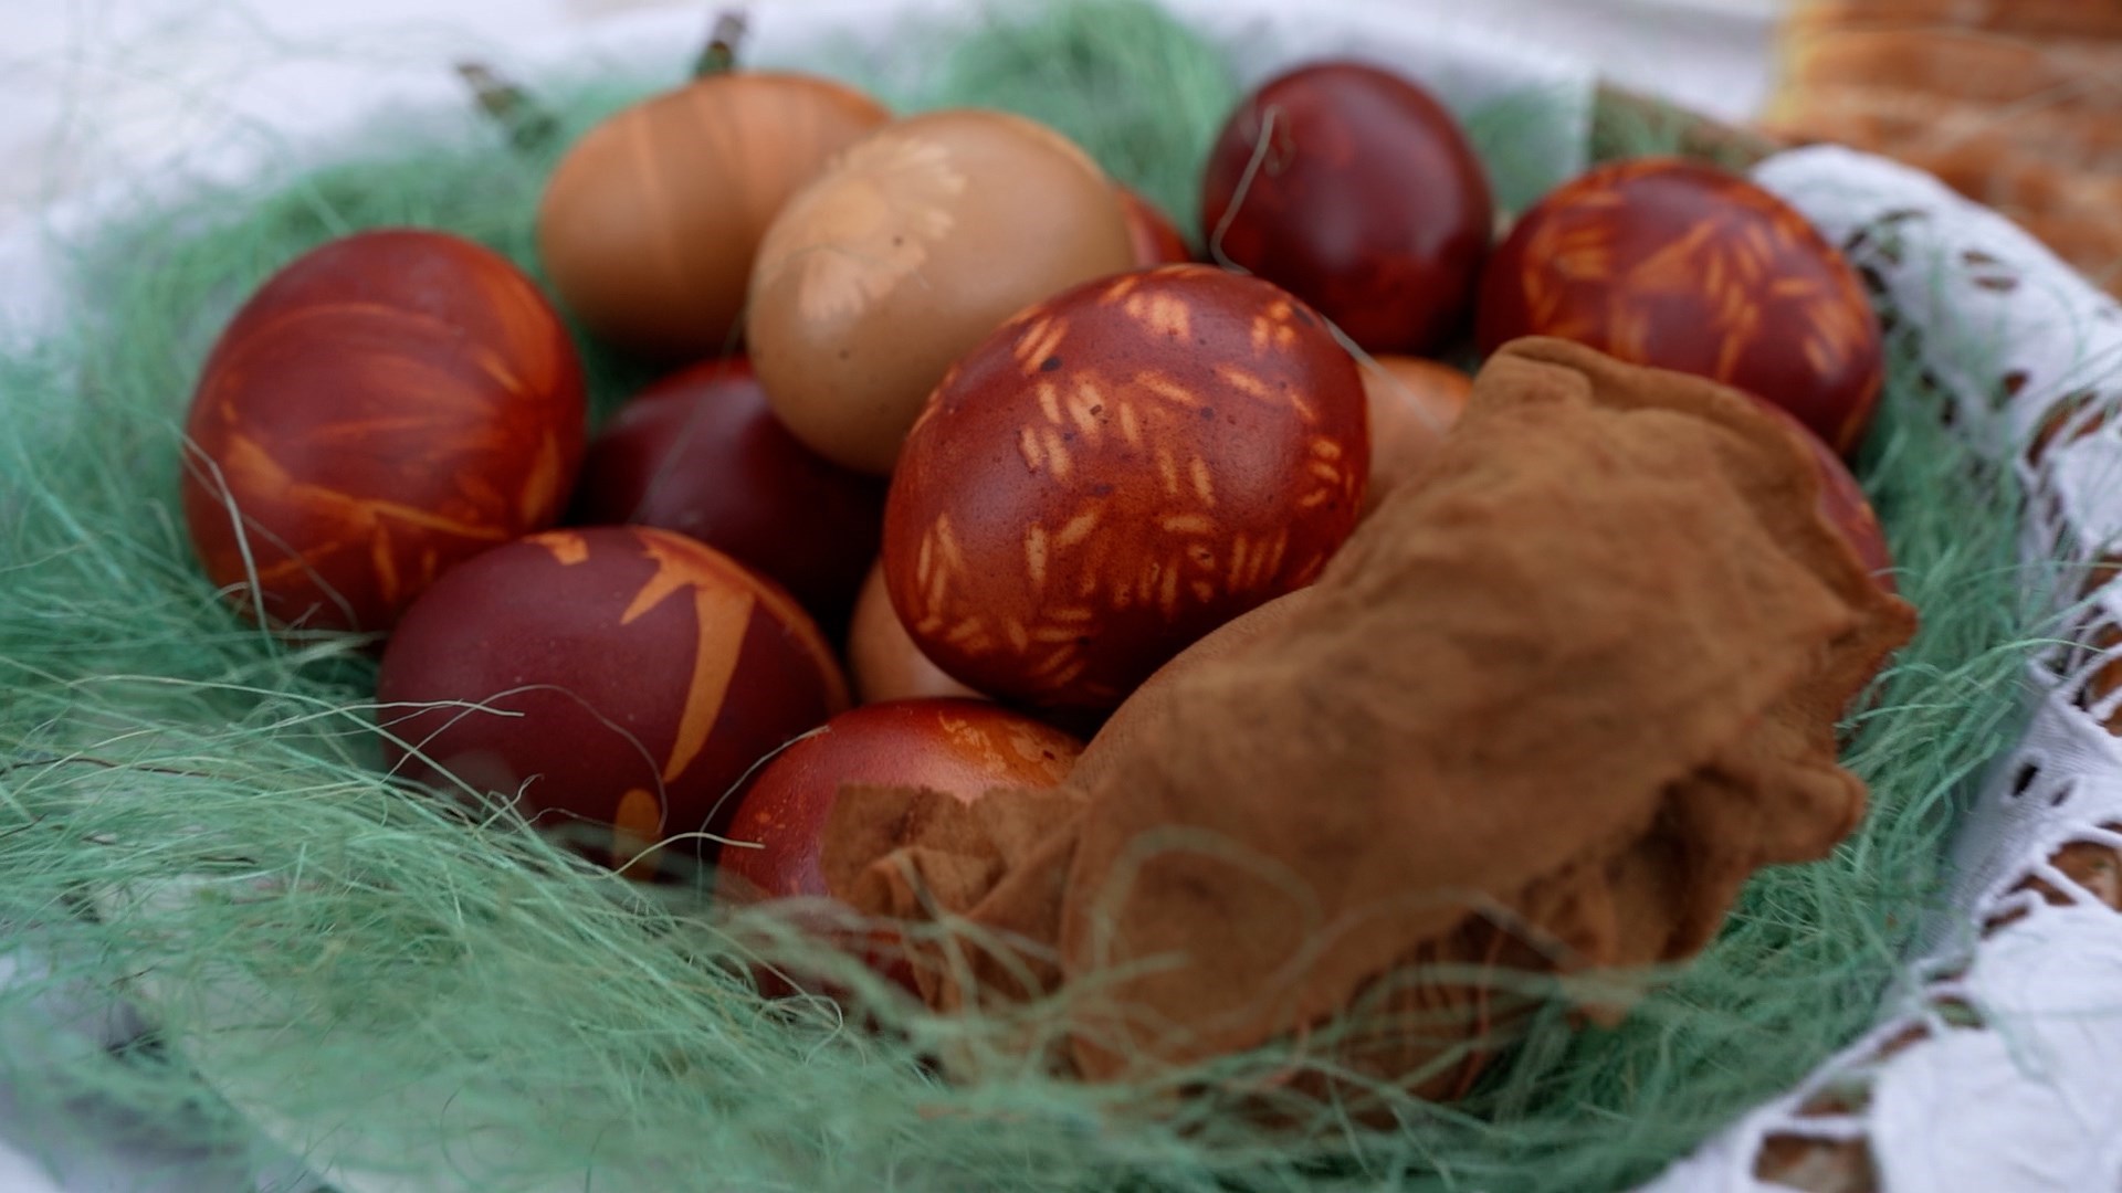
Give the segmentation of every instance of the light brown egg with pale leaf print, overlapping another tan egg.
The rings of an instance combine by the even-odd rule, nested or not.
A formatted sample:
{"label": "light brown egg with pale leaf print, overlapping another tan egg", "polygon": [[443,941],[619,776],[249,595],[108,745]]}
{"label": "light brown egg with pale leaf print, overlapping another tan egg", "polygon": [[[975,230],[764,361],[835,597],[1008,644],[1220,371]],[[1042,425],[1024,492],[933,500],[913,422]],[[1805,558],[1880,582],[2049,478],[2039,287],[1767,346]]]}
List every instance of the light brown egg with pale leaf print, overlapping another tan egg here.
{"label": "light brown egg with pale leaf print, overlapping another tan egg", "polygon": [[1112,183],[1061,134],[982,110],[895,121],[766,231],[751,363],[798,439],[885,476],[951,361],[1133,259]]}

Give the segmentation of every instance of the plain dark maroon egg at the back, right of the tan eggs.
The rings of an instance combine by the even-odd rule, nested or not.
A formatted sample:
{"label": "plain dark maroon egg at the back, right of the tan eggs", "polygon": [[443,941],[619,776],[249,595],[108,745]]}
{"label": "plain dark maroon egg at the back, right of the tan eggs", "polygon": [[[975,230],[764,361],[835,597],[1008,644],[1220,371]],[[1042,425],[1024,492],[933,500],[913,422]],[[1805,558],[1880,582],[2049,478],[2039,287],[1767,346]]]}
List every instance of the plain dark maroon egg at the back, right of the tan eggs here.
{"label": "plain dark maroon egg at the back, right of the tan eggs", "polygon": [[1451,113],[1356,62],[1254,91],[1201,183],[1210,248],[1371,352],[1434,352],[1464,331],[1494,223],[1488,174]]}

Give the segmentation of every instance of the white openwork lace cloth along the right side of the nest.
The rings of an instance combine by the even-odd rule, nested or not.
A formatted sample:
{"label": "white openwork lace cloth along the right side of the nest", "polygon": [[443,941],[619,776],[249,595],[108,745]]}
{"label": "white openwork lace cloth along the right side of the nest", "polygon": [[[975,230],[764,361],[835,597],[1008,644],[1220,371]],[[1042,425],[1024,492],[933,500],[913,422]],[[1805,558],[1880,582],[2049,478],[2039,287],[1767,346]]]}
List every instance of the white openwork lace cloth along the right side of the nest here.
{"label": "white openwork lace cloth along the right side of the nest", "polygon": [[1668,1170],[1655,1193],[1997,1193],[2122,1185],[2122,306],[1929,174],[1844,149],[1757,178],[1842,244],[2029,497],[2022,560],[2069,641],[2029,669],[1880,1025]]}

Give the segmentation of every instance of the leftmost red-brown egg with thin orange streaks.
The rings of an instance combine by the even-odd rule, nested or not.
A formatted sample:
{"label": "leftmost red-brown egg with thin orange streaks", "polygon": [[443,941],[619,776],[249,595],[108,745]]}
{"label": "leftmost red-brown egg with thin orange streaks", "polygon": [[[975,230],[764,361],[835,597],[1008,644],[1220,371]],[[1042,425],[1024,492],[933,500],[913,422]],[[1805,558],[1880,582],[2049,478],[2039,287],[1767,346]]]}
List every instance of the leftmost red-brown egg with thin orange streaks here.
{"label": "leftmost red-brown egg with thin orange streaks", "polygon": [[584,418],[567,329],[499,253],[439,231],[333,240],[206,359],[191,543],[276,628],[388,630],[448,567],[560,516]]}

